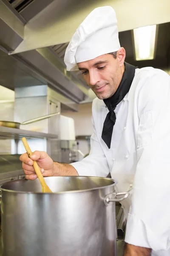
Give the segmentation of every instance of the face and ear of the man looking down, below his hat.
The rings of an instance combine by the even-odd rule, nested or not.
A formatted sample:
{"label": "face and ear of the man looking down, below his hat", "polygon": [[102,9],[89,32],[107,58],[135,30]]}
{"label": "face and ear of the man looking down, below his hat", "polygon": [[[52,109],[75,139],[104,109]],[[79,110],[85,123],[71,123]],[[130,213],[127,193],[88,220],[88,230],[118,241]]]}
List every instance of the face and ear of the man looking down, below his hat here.
{"label": "face and ear of the man looking down, below his hat", "polygon": [[125,49],[117,51],[116,59],[104,54],[90,61],[77,63],[89,87],[99,99],[110,98],[117,90],[125,70]]}

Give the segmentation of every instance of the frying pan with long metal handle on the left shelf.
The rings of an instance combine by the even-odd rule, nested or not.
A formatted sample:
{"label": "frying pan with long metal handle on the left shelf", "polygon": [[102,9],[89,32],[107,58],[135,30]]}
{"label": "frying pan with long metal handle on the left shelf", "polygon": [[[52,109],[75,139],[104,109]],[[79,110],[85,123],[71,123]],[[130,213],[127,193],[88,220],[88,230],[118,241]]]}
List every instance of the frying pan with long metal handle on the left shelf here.
{"label": "frying pan with long metal handle on the left shelf", "polygon": [[10,122],[10,121],[0,121],[0,126],[6,126],[6,127],[10,127],[10,128],[17,128],[17,129],[19,129],[19,128],[20,128],[20,125],[31,124],[31,123],[33,123],[33,122],[37,122],[37,121],[40,121],[40,120],[49,118],[49,117],[51,117],[51,116],[56,116],[56,115],[59,115],[59,112],[57,112],[57,113],[52,113],[52,114],[45,115],[45,116],[40,116],[40,117],[37,117],[37,118],[34,118],[34,119],[30,119],[30,120],[25,121],[25,122],[22,122],[22,123],[19,123],[19,122]]}

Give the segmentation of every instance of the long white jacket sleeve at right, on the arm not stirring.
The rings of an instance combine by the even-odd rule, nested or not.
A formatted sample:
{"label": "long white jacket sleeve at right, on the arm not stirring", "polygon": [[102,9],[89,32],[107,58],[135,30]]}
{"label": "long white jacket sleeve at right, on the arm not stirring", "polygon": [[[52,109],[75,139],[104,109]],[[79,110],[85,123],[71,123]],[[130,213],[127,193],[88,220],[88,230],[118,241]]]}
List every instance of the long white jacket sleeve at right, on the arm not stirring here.
{"label": "long white jacket sleeve at right, on the arm not stirring", "polygon": [[[137,166],[125,241],[170,249],[170,77],[148,78],[139,95]],[[168,251],[170,253],[170,251]],[[166,254],[170,255],[170,254]]]}

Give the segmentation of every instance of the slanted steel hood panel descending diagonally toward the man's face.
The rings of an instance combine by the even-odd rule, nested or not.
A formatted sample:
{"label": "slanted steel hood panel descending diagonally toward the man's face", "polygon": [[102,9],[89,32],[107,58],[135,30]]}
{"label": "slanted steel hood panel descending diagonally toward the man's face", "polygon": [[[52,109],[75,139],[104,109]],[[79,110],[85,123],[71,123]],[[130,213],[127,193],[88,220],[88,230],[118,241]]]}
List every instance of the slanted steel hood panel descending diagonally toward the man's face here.
{"label": "slanted steel hood panel descending diagonally toward the man's face", "polygon": [[[63,96],[79,103],[85,99],[85,94],[71,79],[62,73],[54,63],[56,54],[50,49],[38,49],[36,51],[22,52],[20,57],[33,67],[37,72],[41,72],[43,77],[51,86]],[[55,60],[56,61],[56,60]],[[62,64],[60,64],[62,66]],[[38,67],[38,69],[37,69]],[[65,69],[66,71],[66,69]],[[79,81],[77,83],[80,84]]]}

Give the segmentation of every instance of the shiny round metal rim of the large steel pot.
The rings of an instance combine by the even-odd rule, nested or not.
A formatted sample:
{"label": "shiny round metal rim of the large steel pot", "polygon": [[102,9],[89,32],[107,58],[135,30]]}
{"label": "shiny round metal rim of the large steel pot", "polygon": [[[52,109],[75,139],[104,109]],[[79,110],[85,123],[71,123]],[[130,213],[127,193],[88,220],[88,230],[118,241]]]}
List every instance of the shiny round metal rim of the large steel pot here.
{"label": "shiny round metal rim of the large steel pot", "polygon": [[[12,183],[12,182],[16,182],[16,181],[19,181],[19,180],[23,180],[23,181],[31,181],[31,180],[26,180],[26,179],[19,179],[19,180],[11,180],[11,181],[8,181],[8,182],[5,182],[3,184],[0,185],[0,190],[2,191],[5,191],[5,192],[12,192],[12,193],[19,193],[19,194],[35,194],[35,195],[60,195],[60,194],[71,194],[71,193],[80,193],[80,192],[89,192],[89,191],[94,191],[94,190],[97,190],[97,189],[104,189],[106,187],[113,187],[117,184],[117,181],[116,180],[113,180],[111,178],[108,178],[108,177],[97,177],[97,176],[54,176],[54,177],[57,177],[57,178],[60,178],[60,177],[92,177],[92,178],[98,178],[98,179],[106,179],[106,180],[112,180],[114,183],[113,184],[110,184],[108,186],[101,186],[101,187],[96,187],[96,188],[92,188],[92,189],[81,189],[81,190],[68,190],[68,191],[61,191],[61,192],[52,192],[52,193],[49,193],[49,192],[26,192],[26,191],[17,191],[17,190],[11,190],[11,189],[3,189],[2,186],[7,184],[7,183]],[[45,179],[48,179],[48,178],[54,178],[52,176],[49,176],[49,177],[44,177]]]}

